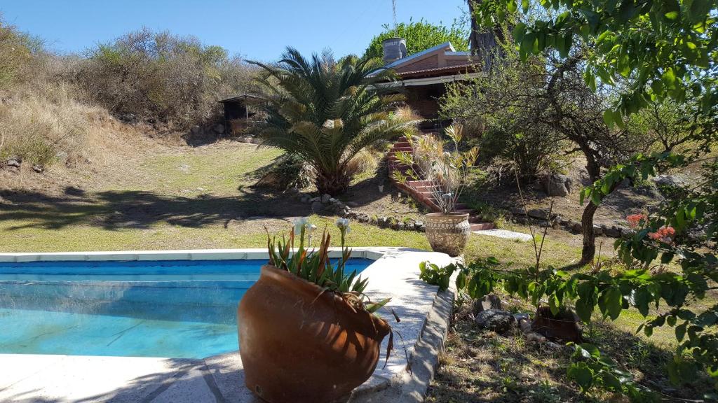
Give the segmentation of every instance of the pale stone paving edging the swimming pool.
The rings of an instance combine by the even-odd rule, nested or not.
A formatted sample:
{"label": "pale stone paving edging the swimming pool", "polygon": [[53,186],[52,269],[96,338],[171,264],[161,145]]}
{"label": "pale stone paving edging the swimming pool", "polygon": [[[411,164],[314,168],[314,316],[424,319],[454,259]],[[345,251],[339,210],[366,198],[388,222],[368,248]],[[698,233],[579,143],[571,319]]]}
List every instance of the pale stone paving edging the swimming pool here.
{"label": "pale stone paving edging the swimming pool", "polygon": [[[337,257],[339,254],[339,248],[332,248],[331,255],[333,257]],[[266,259],[267,257],[267,252],[264,249],[51,252],[0,253],[0,262],[221,260]],[[406,361],[404,349],[401,347],[401,339],[396,337],[395,350],[389,357],[386,367],[381,361],[373,376],[353,391],[350,402],[420,402],[434,375],[439,351],[443,349],[455,290],[437,293],[436,286],[422,283],[419,280],[418,264],[424,260],[431,260],[439,265],[445,265],[452,259],[437,252],[400,247],[357,247],[354,249],[353,257],[376,260],[364,271],[373,280],[370,281],[367,294],[373,300],[388,296],[393,298],[391,307],[404,320],[394,323],[390,313],[382,313],[382,316],[404,336],[407,342],[406,350],[409,354],[409,361]],[[388,338],[385,339],[382,351],[386,351],[387,342]],[[10,363],[24,362],[22,360],[26,357],[19,354],[6,354],[3,360]],[[208,402],[255,402],[255,399],[243,386],[241,359],[237,352],[208,357],[203,360],[42,355],[34,356],[34,359],[38,363],[45,363],[37,364],[38,366],[47,366],[52,369],[45,371],[45,374],[29,376],[29,379],[22,379],[14,384],[0,384],[0,400],[5,398],[4,394],[12,392],[29,393],[32,396],[42,394],[43,397],[53,394],[56,397],[64,397],[62,393],[66,392],[74,396],[82,391],[76,390],[78,385],[73,385],[73,380],[80,378],[85,382],[87,376],[94,371],[101,371],[101,368],[106,368],[108,361],[112,361],[113,366],[129,368],[127,371],[130,374],[123,373],[125,377],[118,376],[118,379],[114,381],[107,379],[105,386],[110,388],[109,394],[106,393],[103,397],[98,397],[93,401],[112,399],[113,401],[165,402],[172,401],[167,399],[169,399],[169,394],[176,392],[176,389],[187,389],[182,393],[192,396],[193,393],[200,393],[195,390],[199,388],[209,391],[202,392],[204,393],[202,396],[207,395],[206,401]],[[49,361],[52,361],[52,364],[47,364]],[[158,364],[160,361],[162,364]],[[162,381],[142,381],[137,384],[137,379],[146,376],[142,373],[141,367],[148,364],[141,364],[142,362],[161,366],[162,371],[153,375]],[[97,363],[97,369],[93,363]],[[411,372],[407,371],[409,367],[412,369]],[[59,369],[62,374],[56,373]],[[10,369],[6,368],[6,370]],[[136,371],[136,373],[132,371]],[[3,368],[0,368],[0,374],[3,373]],[[41,374],[41,371],[35,373]],[[55,378],[62,378],[62,382]],[[67,381],[67,378],[70,378],[70,381]],[[200,380],[198,381],[198,379]],[[115,383],[113,384],[113,382]],[[128,386],[132,383],[135,386],[129,389]],[[47,384],[50,387],[47,387]],[[72,389],[73,387],[75,390]],[[55,389],[52,391],[46,390],[53,388]],[[146,394],[141,392],[145,390]],[[138,393],[143,394],[141,399],[137,397]],[[130,399],[130,395],[133,396],[132,399],[137,399]],[[204,397],[197,397],[192,401],[205,402]]]}

